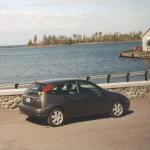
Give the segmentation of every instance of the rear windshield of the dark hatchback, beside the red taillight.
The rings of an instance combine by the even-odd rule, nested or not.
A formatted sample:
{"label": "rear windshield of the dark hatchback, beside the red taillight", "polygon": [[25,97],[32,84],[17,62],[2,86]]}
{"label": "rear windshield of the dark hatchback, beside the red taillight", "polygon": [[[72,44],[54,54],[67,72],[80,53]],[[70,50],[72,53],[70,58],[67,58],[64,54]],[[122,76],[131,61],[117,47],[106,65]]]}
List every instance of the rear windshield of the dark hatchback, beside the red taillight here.
{"label": "rear windshield of the dark hatchback, beside the red taillight", "polygon": [[25,93],[31,93],[31,94],[35,93],[36,94],[38,92],[41,92],[45,86],[46,86],[45,83],[35,82],[30,85],[30,87],[26,90]]}

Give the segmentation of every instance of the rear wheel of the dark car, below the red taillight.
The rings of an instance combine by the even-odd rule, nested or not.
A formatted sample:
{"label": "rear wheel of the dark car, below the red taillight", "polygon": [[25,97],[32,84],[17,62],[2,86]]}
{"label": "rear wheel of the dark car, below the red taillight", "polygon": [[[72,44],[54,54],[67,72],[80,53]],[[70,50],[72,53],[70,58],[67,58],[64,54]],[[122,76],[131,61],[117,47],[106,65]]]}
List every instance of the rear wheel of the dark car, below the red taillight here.
{"label": "rear wheel of the dark car, below the red taillight", "polygon": [[60,108],[51,110],[47,122],[52,127],[59,127],[64,123],[64,112]]}

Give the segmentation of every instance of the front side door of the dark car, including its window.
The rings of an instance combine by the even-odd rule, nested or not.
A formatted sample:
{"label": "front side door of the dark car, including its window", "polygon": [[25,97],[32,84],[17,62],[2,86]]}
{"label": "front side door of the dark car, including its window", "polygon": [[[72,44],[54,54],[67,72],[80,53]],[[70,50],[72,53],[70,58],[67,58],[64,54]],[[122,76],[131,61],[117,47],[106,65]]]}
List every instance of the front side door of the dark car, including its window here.
{"label": "front side door of the dark car, including its window", "polygon": [[107,110],[108,100],[104,90],[89,81],[79,81],[79,95],[86,105],[83,106],[86,114],[103,113]]}

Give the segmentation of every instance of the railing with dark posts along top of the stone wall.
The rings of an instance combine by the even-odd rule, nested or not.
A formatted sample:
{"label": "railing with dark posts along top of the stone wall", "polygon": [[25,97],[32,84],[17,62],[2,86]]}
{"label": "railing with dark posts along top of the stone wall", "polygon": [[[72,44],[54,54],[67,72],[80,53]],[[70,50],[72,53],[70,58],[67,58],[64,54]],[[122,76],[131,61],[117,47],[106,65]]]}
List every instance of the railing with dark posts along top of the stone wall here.
{"label": "railing with dark posts along top of the stone wall", "polygon": [[[128,73],[118,73],[118,74],[108,74],[108,75],[96,75],[96,76],[86,76],[79,77],[79,79],[86,80],[105,80],[103,83],[110,83],[111,79],[114,78],[124,78],[126,82],[130,82],[131,77],[143,76],[143,80],[148,81],[148,75],[150,70],[138,71],[138,72],[128,72]],[[18,88],[27,88],[32,82],[26,83],[15,83],[15,84],[4,84],[0,85],[0,89],[18,89]]]}

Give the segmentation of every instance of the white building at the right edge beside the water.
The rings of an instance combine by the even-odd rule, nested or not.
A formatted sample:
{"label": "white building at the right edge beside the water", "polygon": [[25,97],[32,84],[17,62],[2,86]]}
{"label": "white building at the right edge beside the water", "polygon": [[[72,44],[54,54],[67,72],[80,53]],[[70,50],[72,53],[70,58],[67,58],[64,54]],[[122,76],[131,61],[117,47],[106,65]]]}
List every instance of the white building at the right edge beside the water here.
{"label": "white building at the right edge beside the water", "polygon": [[143,51],[150,51],[150,28],[141,35]]}

